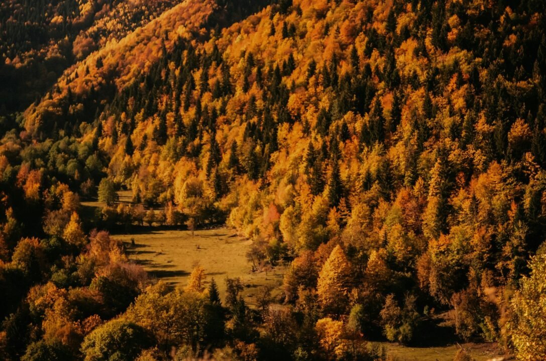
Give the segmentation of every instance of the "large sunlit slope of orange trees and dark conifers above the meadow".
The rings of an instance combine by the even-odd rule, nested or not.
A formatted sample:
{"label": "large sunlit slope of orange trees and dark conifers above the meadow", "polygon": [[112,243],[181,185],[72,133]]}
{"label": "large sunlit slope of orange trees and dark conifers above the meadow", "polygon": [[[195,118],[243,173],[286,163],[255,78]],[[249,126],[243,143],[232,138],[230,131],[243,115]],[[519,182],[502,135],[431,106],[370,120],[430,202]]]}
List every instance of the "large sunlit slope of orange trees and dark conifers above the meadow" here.
{"label": "large sunlit slope of orange trees and dark conifers above the meadow", "polygon": [[186,0],[66,70],[2,140],[5,229],[17,195],[47,233],[58,182],[132,190],[90,226],[144,207],[227,222],[254,270],[290,262],[286,313],[258,326],[233,281],[240,357],[373,358],[363,335],[426,346],[439,317],[449,339],[509,347],[546,232],[544,3],[250,3]]}

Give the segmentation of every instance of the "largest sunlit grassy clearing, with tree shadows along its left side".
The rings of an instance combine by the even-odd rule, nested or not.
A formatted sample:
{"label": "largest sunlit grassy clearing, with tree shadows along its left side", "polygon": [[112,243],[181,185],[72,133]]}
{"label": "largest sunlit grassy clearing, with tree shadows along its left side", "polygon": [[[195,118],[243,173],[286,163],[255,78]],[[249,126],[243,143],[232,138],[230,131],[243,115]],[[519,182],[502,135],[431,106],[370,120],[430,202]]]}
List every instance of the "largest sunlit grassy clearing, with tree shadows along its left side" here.
{"label": "largest sunlit grassy clearing, with tree shadows along its left side", "polygon": [[[139,234],[114,236],[127,245],[129,258],[141,264],[153,277],[171,285],[185,286],[196,263],[205,269],[207,281],[213,277],[222,297],[226,277],[240,277],[246,285],[244,296],[254,304],[259,286],[271,285],[280,294],[283,266],[271,272],[251,272],[245,254],[252,241],[235,235],[229,228],[191,231],[152,230]],[[131,238],[135,246],[131,246]]]}

